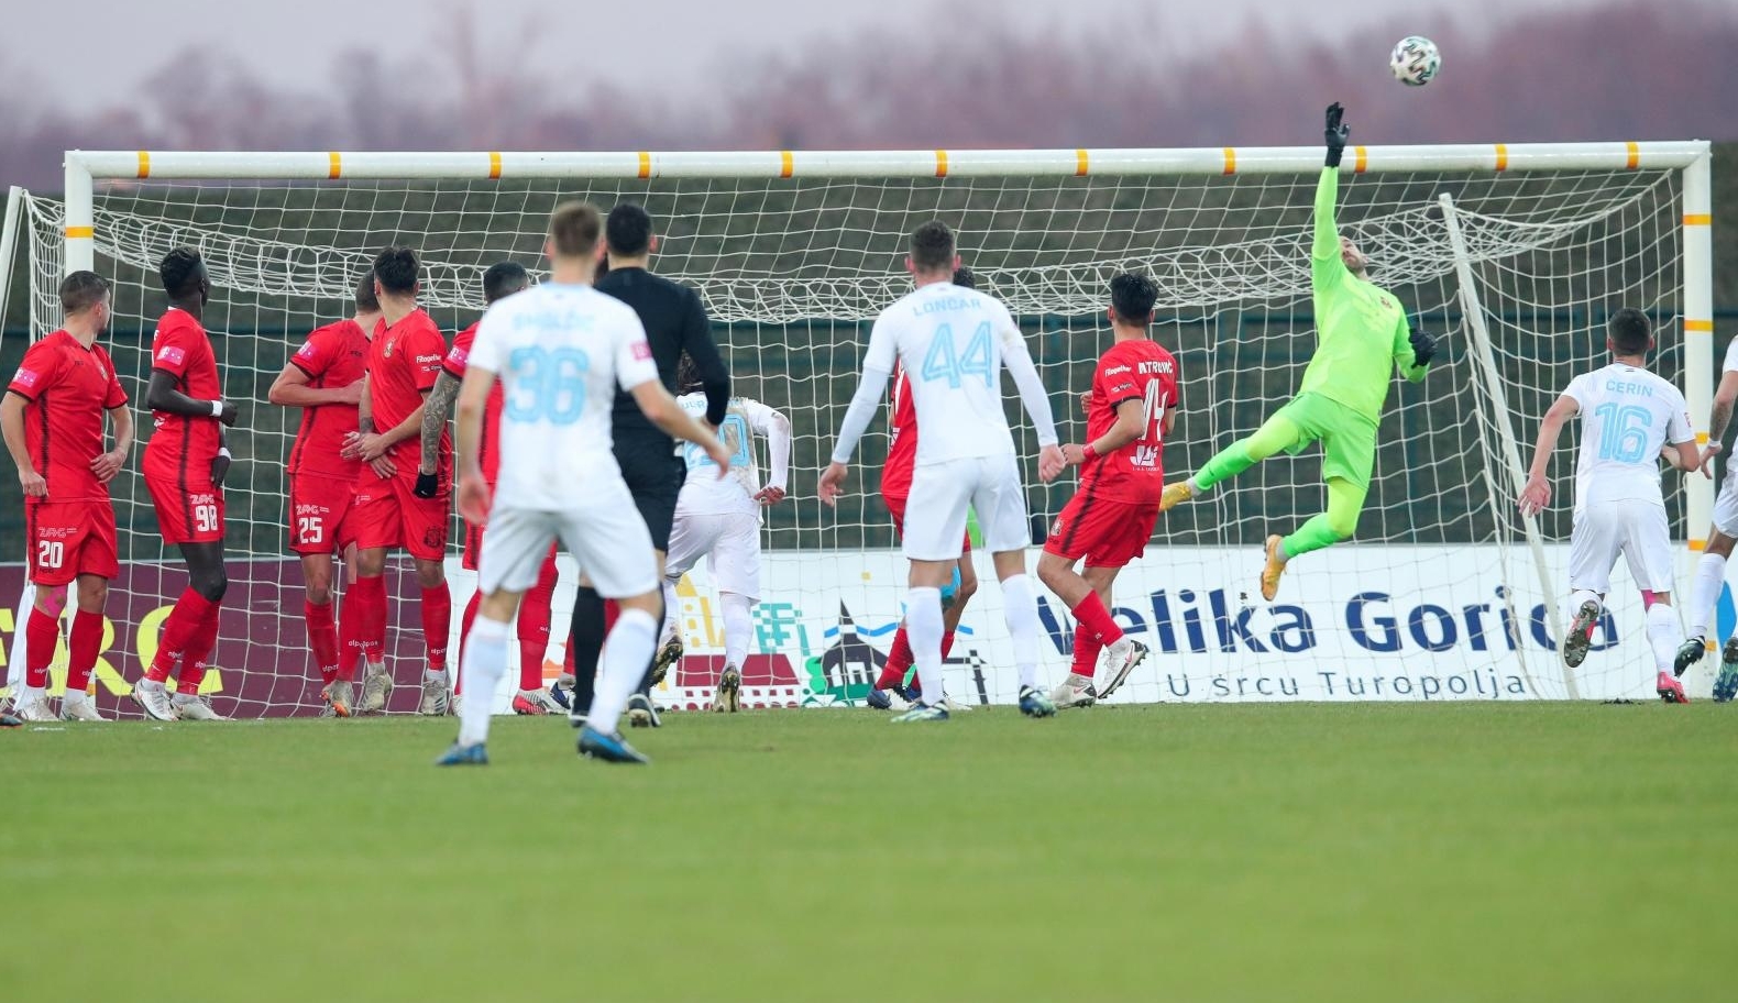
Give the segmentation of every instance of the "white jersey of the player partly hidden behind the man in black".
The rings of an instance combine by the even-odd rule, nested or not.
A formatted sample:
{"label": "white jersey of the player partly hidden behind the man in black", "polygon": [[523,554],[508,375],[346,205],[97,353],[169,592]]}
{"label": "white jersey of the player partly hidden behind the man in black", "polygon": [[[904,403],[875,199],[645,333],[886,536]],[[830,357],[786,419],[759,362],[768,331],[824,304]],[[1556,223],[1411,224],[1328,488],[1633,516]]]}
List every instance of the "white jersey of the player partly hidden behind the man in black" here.
{"label": "white jersey of the player partly hidden behind the man in black", "polygon": [[[676,398],[688,414],[706,417],[706,395],[685,393]],[[718,464],[692,442],[676,443],[676,452],[688,464],[688,480],[676,499],[676,515],[730,515],[760,516],[761,504],[754,495],[761,490],[760,462],[754,452],[754,435],[766,436],[772,452],[768,483],[784,488],[791,464],[791,422],[782,414],[758,400],[730,398],[725,422],[718,426],[718,442],[730,450],[730,473],[718,476]]]}

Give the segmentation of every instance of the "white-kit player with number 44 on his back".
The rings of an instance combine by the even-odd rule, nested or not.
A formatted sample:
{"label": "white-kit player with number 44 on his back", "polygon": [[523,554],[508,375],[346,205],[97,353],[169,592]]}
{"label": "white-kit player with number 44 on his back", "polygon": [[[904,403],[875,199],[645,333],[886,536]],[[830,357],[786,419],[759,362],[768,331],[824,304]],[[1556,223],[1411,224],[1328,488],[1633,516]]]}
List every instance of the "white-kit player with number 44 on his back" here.
{"label": "white-kit player with number 44 on his back", "polygon": [[925,223],[911,235],[905,268],[918,289],[876,318],[862,382],[845,414],[833,462],[820,475],[820,501],[838,502],[852,450],[886,396],[886,381],[899,362],[918,407],[918,462],[905,509],[904,551],[911,560],[905,633],[918,662],[921,701],[893,721],[947,720],[942,706],[942,586],[959,560],[968,508],[977,509],[984,544],[1001,579],[1008,634],[1020,669],[1020,711],[1050,716],[1057,706],[1038,681],[1038,600],[1025,574],[1032,530],[1013,435],[1001,410],[1003,367],[1013,375],[1038,429],[1038,476],[1046,482],[1067,466],[1057,445],[1050,398],[1008,308],[952,283],[959,256],[944,223]]}

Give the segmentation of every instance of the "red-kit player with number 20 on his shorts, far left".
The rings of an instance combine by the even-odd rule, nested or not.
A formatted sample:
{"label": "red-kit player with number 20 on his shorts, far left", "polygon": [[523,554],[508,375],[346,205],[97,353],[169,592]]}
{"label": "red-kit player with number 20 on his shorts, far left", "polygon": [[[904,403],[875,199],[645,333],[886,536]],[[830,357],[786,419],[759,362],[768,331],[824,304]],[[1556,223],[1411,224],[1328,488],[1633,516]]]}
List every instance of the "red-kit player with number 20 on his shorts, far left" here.
{"label": "red-kit player with number 20 on his shorts, far left", "polygon": [[[132,450],[132,412],[115,363],[96,344],[109,322],[109,285],[94,271],[61,282],[66,327],[30,346],[0,400],[0,429],[24,488],[30,581],[36,600],[24,628],[24,687],[16,697],[24,721],[52,721],[49,662],[61,640],[66,588],[76,582],[78,612],[68,638],[61,720],[101,721],[85,688],[103,647],[108,582],[120,572],[109,480]],[[115,448],[103,448],[103,415],[115,424]]]}

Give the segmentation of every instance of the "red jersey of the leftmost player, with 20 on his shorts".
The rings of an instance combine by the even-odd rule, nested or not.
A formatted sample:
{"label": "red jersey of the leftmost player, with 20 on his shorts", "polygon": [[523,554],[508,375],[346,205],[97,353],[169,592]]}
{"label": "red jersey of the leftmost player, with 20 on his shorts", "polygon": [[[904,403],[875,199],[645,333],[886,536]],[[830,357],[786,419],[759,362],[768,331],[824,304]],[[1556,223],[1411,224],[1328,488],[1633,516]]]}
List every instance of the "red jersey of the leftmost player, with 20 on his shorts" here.
{"label": "red jersey of the leftmost player, with 20 on his shorts", "polygon": [[49,482],[47,497],[26,497],[24,504],[109,497],[90,469],[103,454],[103,414],[127,403],[108,353],[56,330],[24,351],[7,389],[30,402],[24,448]]}

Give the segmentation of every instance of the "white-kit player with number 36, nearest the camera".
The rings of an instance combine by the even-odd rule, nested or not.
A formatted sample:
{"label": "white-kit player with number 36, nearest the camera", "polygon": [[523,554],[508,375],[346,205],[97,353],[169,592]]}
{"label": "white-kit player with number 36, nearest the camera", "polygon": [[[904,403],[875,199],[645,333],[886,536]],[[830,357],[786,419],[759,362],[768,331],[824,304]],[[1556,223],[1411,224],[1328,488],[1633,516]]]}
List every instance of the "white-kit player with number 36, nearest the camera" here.
{"label": "white-kit player with number 36, nearest the camera", "polygon": [[[469,699],[459,741],[436,765],[488,763],[483,742],[495,683],[507,669],[507,641],[520,596],[560,537],[620,617],[603,648],[598,692],[579,734],[584,756],[645,763],[617,723],[652,661],[657,641],[657,561],[652,535],[634,509],[610,442],[615,388],[666,433],[697,443],[730,469],[718,438],[693,421],[657,379],[638,315],[591,287],[603,221],[582,202],[549,217],[549,282],[497,301],[483,315],[459,388],[459,515],[488,525],[478,560],[483,601],[459,671]],[[501,476],[490,497],[478,462],[483,407],[495,377],[501,414]]]}

